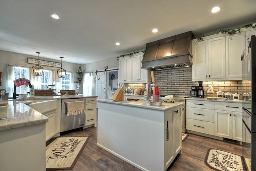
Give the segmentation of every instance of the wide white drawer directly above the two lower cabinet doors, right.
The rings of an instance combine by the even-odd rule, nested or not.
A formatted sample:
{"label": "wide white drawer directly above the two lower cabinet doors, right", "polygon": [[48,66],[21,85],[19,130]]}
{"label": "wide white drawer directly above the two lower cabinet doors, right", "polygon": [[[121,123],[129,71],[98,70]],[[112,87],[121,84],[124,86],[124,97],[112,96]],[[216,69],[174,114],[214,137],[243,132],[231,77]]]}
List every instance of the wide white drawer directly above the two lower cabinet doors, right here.
{"label": "wide white drawer directly above the two lower cabinet doors, right", "polygon": [[242,112],[242,103],[214,102],[214,109]]}

